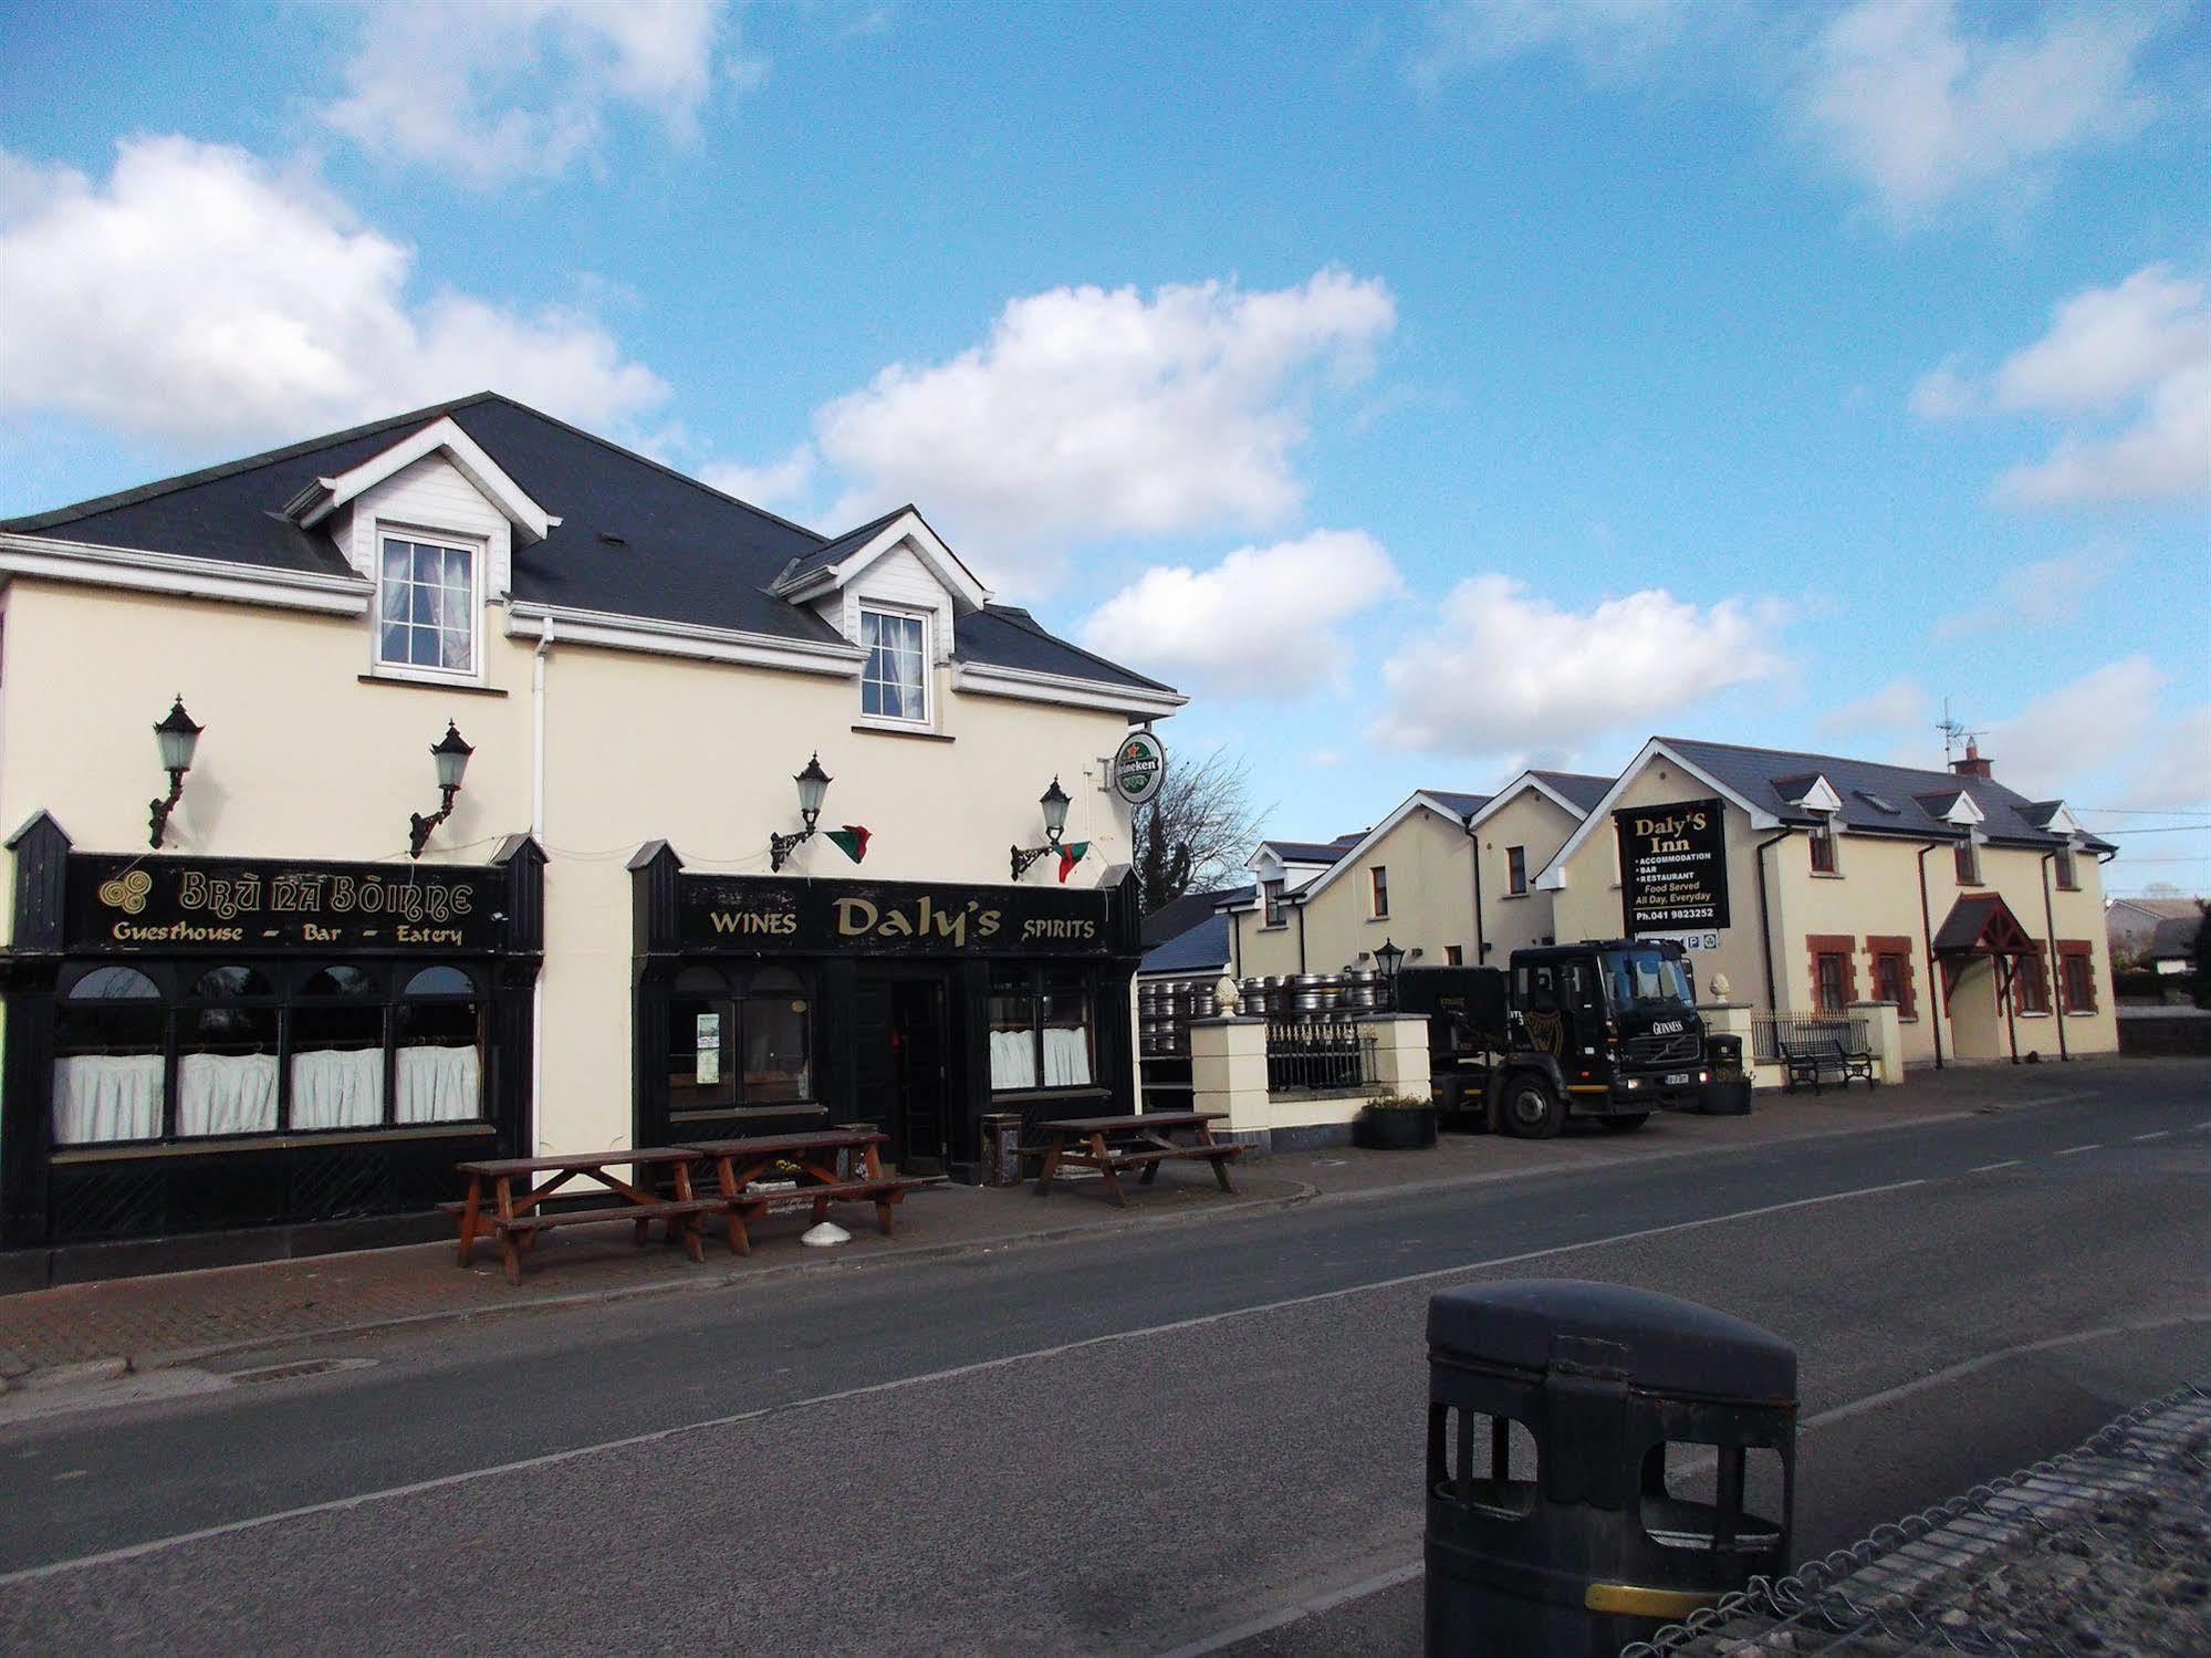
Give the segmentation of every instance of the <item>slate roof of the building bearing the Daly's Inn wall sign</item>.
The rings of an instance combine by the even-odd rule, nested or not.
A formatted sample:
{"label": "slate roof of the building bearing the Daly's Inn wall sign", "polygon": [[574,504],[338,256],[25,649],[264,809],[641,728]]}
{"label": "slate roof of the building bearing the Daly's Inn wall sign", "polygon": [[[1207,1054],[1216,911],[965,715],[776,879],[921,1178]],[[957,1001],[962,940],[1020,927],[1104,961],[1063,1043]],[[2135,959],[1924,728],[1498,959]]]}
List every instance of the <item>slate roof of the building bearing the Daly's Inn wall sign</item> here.
{"label": "slate roof of the building bearing the Daly's Inn wall sign", "polygon": [[[1924,772],[1919,767],[1882,765],[1877,760],[1851,760],[1840,754],[1793,754],[1789,749],[1753,749],[1738,743],[1700,743],[1687,736],[1660,736],[1658,741],[1782,822],[1813,822],[1815,818],[1815,814],[1793,805],[1789,800],[1791,789],[1782,785],[1802,785],[1811,776],[1824,776],[1835,787],[1835,794],[1842,796],[1840,818],[1848,829],[1955,840],[1959,827],[1943,820],[1943,809],[1959,794],[1968,794],[1985,816],[1981,831],[1990,840],[2023,847],[2056,847],[2065,840],[2043,829],[2032,816],[2041,807],[2047,822],[2056,802],[2027,800],[2016,789],[2005,789],[1992,778]],[[1884,811],[1882,802],[1893,807],[1893,811]],[[2087,836],[2085,844],[2096,851],[2114,851],[2109,840],[2098,840],[2096,836]]]}

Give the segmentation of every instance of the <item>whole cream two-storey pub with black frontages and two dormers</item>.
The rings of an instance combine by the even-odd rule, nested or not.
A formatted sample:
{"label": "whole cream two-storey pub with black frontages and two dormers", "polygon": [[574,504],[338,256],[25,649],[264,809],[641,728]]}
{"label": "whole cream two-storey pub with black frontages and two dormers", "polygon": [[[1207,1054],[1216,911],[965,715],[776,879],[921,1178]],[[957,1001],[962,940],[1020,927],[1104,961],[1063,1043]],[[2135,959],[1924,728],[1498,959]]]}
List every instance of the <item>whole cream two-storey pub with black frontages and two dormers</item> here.
{"label": "whole cream two-storey pub with black frontages and two dormers", "polygon": [[387,1236],[471,1154],[964,1172],[1130,1108],[1110,774],[1183,699],[911,506],[822,537],[486,393],[0,524],[0,628],[15,1276]]}

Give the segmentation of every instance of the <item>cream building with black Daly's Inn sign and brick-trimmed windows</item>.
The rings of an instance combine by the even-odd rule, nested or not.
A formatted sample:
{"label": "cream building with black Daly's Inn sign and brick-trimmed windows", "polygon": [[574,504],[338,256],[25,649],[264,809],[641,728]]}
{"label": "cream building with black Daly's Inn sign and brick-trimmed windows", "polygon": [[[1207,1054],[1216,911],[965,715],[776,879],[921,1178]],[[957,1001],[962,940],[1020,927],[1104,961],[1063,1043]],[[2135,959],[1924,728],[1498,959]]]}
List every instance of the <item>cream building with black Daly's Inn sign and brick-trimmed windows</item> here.
{"label": "cream building with black Daly's Inn sign and brick-trimmed windows", "polygon": [[[1623,847],[1656,880],[1625,880]],[[1762,1015],[1895,1001],[1910,1063],[2069,1059],[2118,1048],[2112,851],[2063,800],[2005,789],[1974,749],[1928,772],[1652,738],[1537,886],[1561,937],[1678,937],[1700,990],[1720,977]],[[1685,915],[1647,920],[1638,898],[1669,902],[1674,880]],[[1711,895],[1722,915],[1689,917]]]}

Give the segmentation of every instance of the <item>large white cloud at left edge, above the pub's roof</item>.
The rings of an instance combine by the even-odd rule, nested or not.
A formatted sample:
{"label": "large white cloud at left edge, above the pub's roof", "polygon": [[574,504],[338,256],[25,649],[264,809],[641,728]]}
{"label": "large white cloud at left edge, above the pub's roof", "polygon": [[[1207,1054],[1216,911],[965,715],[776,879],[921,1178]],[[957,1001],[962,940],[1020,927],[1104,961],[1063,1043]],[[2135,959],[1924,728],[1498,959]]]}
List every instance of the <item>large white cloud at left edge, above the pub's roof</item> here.
{"label": "large white cloud at left edge, above the pub's roof", "polygon": [[0,411],[263,442],[497,387],[586,424],[668,387],[590,316],[409,298],[413,252],[312,175],[128,139],[95,183],[0,153]]}

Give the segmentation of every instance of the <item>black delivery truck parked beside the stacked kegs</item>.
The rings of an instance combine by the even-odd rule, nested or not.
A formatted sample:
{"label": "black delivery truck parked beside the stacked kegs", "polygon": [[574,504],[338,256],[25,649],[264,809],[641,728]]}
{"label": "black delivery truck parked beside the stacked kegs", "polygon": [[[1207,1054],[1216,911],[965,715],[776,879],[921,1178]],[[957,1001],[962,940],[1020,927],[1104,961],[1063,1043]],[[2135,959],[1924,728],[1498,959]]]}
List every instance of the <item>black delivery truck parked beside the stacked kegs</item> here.
{"label": "black delivery truck parked beside the stacked kegs", "polygon": [[1406,968],[1397,1008],[1428,1015],[1446,1119],[1548,1138],[1568,1116],[1643,1127],[1705,1085],[1705,1021],[1669,940],[1512,951],[1506,968]]}

